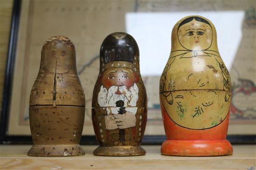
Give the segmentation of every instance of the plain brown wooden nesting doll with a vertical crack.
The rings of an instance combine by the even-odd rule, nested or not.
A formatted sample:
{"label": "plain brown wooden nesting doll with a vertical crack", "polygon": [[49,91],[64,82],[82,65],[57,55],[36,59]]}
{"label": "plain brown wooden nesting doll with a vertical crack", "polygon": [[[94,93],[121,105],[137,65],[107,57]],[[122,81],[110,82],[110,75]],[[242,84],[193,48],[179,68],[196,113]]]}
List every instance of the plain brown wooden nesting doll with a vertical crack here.
{"label": "plain brown wooden nesting doll with a vertical crack", "polygon": [[47,39],[29,100],[34,145],[28,156],[79,156],[85,95],[77,75],[74,44],[64,36]]}

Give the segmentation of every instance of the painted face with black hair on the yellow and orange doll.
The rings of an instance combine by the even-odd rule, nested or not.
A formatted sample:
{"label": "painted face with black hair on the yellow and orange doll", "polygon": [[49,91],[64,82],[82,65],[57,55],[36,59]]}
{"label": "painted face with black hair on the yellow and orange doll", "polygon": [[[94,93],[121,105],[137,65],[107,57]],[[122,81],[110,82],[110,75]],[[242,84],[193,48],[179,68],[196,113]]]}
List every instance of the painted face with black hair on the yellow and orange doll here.
{"label": "painted face with black hair on the yellow and orange doll", "polygon": [[212,28],[209,24],[193,19],[179,27],[178,38],[188,50],[206,50],[212,43]]}

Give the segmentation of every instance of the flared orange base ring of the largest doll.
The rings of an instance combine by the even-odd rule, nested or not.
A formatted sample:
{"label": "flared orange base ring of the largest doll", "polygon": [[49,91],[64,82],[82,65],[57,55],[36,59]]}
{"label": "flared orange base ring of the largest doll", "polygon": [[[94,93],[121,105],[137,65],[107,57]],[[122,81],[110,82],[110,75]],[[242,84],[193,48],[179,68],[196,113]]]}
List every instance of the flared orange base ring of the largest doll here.
{"label": "flared orange base ring of the largest doll", "polygon": [[228,140],[166,140],[162,144],[162,155],[171,156],[223,156],[232,155]]}

